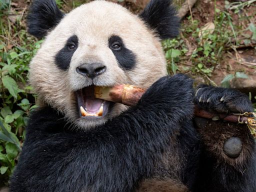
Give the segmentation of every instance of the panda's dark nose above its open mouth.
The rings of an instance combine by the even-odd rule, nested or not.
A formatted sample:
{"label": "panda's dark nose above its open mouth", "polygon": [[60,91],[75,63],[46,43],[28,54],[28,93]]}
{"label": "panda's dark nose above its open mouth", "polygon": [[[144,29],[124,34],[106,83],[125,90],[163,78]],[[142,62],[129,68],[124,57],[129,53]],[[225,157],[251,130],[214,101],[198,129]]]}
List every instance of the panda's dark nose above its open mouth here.
{"label": "panda's dark nose above its open mouth", "polygon": [[84,63],[76,68],[76,72],[83,76],[93,78],[106,71],[106,66],[102,63]]}

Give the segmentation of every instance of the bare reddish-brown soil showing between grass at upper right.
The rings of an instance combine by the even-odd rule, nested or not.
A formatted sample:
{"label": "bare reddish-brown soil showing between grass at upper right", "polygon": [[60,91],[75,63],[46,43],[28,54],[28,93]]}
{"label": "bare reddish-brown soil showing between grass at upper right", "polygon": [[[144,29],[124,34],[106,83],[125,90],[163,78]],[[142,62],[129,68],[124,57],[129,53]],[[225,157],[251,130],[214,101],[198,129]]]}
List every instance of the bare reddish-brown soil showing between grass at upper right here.
{"label": "bare reddish-brown soil showing between grass at upper right", "polygon": [[[224,11],[225,2],[224,0],[216,0],[216,7],[220,11]],[[232,17],[232,22],[234,25],[241,27],[241,30],[247,28],[249,23],[256,23],[255,17],[256,7],[248,6],[240,10],[240,15],[246,15],[247,17],[253,16],[252,18],[241,19],[238,14],[234,14],[233,11],[230,11]],[[188,12],[188,15],[190,13]],[[192,8],[192,17],[199,21],[199,27],[204,26],[208,22],[214,22],[214,1],[213,0],[197,0],[195,6]],[[183,20],[184,23],[190,22],[187,19]],[[214,81],[217,85],[220,85],[223,78],[228,74],[234,74],[235,72],[244,72],[248,75],[249,79],[255,79],[256,75],[256,41],[252,41],[251,44],[245,45],[243,39],[246,39],[246,36],[251,36],[252,32],[249,30],[244,30],[241,36],[237,38],[241,40],[240,46],[233,49],[229,49],[223,55],[223,59],[214,66],[214,70],[210,79]],[[190,49],[193,50],[196,48],[197,42],[193,37],[187,39],[190,44]],[[234,39],[232,39],[234,40]],[[245,61],[245,62],[244,62]],[[207,64],[206,64],[207,65]],[[210,64],[207,65],[210,67]],[[196,83],[207,83],[209,82],[203,76],[194,76]],[[241,79],[243,80],[243,79]],[[232,83],[231,83],[232,86]],[[255,81],[256,86],[256,81]],[[236,87],[237,88],[237,87]],[[243,89],[241,89],[243,90]],[[247,90],[247,89],[246,89]],[[246,92],[247,93],[247,92]]]}

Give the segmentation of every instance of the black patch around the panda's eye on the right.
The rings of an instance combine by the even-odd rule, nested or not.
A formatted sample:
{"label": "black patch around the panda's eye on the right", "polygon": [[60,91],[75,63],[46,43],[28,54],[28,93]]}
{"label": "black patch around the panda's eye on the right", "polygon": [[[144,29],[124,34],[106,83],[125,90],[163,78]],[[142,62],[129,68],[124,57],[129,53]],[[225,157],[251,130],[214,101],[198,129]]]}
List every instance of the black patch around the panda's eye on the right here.
{"label": "black patch around the panda's eye on the right", "polygon": [[112,50],[121,68],[130,70],[135,67],[136,55],[125,47],[121,37],[117,35],[110,36],[108,46]]}

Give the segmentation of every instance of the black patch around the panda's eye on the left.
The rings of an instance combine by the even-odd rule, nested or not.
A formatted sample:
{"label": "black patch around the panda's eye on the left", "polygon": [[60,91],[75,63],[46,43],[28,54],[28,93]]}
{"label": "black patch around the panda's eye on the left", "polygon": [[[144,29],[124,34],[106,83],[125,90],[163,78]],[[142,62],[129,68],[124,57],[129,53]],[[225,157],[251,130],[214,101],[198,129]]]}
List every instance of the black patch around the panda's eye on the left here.
{"label": "black patch around the panda's eye on the left", "polygon": [[69,68],[72,55],[77,47],[78,37],[76,35],[70,36],[67,39],[65,46],[61,50],[59,50],[55,56],[56,65],[60,69],[66,70]]}

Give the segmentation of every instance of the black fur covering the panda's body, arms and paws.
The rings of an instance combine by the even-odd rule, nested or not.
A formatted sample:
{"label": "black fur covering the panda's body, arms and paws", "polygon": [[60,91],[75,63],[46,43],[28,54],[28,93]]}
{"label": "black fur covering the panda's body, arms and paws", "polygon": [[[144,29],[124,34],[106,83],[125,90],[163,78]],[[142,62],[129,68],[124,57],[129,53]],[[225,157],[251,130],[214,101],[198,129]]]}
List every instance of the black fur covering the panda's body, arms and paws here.
{"label": "black fur covering the panda's body, arms and paws", "polygon": [[[222,90],[203,88],[195,99],[210,92],[219,98]],[[72,125],[52,108],[38,109],[30,116],[10,191],[128,192],[144,178],[173,178],[192,192],[253,192],[255,142],[247,127],[233,129],[228,123],[209,121],[198,129],[200,147],[192,123],[193,99],[192,80],[178,74],[162,77],[136,106],[91,130],[69,129]],[[248,99],[244,101],[250,106]],[[226,104],[231,112],[233,103]],[[198,105],[206,107],[205,103]],[[242,108],[239,103],[236,107],[235,111]],[[208,127],[210,133],[205,133]],[[242,138],[243,156],[232,159],[222,155],[218,138],[228,138],[226,133]],[[209,148],[205,138],[213,143]],[[181,167],[173,170],[170,163],[177,160]]]}

